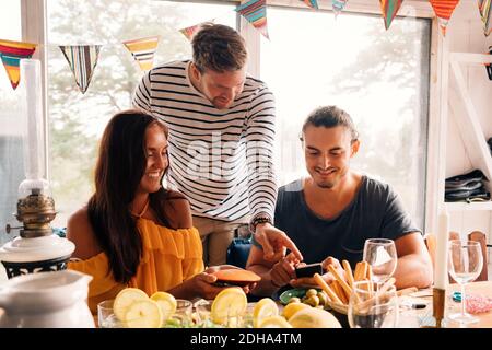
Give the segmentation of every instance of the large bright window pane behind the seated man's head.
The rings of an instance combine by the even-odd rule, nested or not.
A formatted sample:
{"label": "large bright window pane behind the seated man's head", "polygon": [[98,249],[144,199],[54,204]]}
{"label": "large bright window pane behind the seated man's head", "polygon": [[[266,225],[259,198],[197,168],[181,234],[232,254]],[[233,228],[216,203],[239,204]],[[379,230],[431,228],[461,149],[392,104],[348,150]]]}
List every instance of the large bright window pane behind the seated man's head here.
{"label": "large bright window pane behind the seated man's head", "polygon": [[398,18],[385,31],[379,15],[269,8],[268,27],[261,79],[277,100],[281,184],[307,175],[307,114],[337,105],[361,135],[352,168],[393,185],[423,228],[430,21]]}

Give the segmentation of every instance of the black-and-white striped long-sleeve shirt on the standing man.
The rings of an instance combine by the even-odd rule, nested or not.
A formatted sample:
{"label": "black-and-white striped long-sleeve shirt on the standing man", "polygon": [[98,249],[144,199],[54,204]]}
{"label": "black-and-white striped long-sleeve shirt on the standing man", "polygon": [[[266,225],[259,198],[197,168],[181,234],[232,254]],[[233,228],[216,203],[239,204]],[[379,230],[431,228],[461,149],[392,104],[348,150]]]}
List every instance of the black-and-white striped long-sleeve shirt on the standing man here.
{"label": "black-and-white striped long-sleeve shirt on the standing man", "polygon": [[246,78],[227,109],[218,109],[191,84],[189,61],[157,66],[137,86],[133,105],[169,129],[167,183],[195,215],[233,221],[273,218],[274,100],[266,84]]}

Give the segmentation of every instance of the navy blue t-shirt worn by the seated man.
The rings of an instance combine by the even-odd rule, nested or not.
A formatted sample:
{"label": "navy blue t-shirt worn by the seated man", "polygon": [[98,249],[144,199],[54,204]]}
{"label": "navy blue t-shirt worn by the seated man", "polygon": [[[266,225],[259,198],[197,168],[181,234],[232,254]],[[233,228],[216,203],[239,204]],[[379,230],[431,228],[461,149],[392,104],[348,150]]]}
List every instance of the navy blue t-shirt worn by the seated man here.
{"label": "navy blue t-shirt worn by the seated man", "polygon": [[332,256],[348,260],[352,267],[362,260],[366,238],[397,240],[421,232],[390,186],[365,175],[353,200],[332,219],[320,218],[307,207],[302,180],[282,186],[274,225],[294,241],[305,262]]}

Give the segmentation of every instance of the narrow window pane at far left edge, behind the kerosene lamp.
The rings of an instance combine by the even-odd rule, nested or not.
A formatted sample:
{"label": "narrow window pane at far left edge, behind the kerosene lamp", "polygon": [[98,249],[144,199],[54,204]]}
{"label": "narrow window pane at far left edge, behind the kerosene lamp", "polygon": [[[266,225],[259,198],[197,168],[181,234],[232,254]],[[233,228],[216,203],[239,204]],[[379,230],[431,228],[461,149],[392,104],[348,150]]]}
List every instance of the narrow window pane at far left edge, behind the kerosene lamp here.
{"label": "narrow window pane at far left edge, behind the kerosene lamp", "polygon": [[[21,1],[4,1],[0,11],[0,38],[22,40]],[[21,117],[19,93],[12,89],[9,77],[0,67],[0,245],[19,235],[5,234],[5,224],[21,223],[12,215],[16,211],[17,187],[24,179],[22,130],[15,122]]]}

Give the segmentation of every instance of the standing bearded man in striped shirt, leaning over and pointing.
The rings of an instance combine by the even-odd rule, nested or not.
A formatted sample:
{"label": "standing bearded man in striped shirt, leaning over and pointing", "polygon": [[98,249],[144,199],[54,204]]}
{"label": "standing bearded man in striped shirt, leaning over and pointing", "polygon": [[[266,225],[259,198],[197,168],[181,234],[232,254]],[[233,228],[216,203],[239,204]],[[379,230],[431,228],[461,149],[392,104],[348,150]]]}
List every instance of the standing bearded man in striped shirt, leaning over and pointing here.
{"label": "standing bearded man in striped shirt, leaning over and pointing", "polygon": [[150,70],[133,105],[169,129],[167,182],[190,202],[206,265],[225,262],[243,224],[259,241],[271,236],[273,250],[284,254],[286,246],[301,255],[272,225],[274,100],[263,82],[246,74],[243,37],[229,26],[206,24],[194,36],[192,51],[192,61]]}

